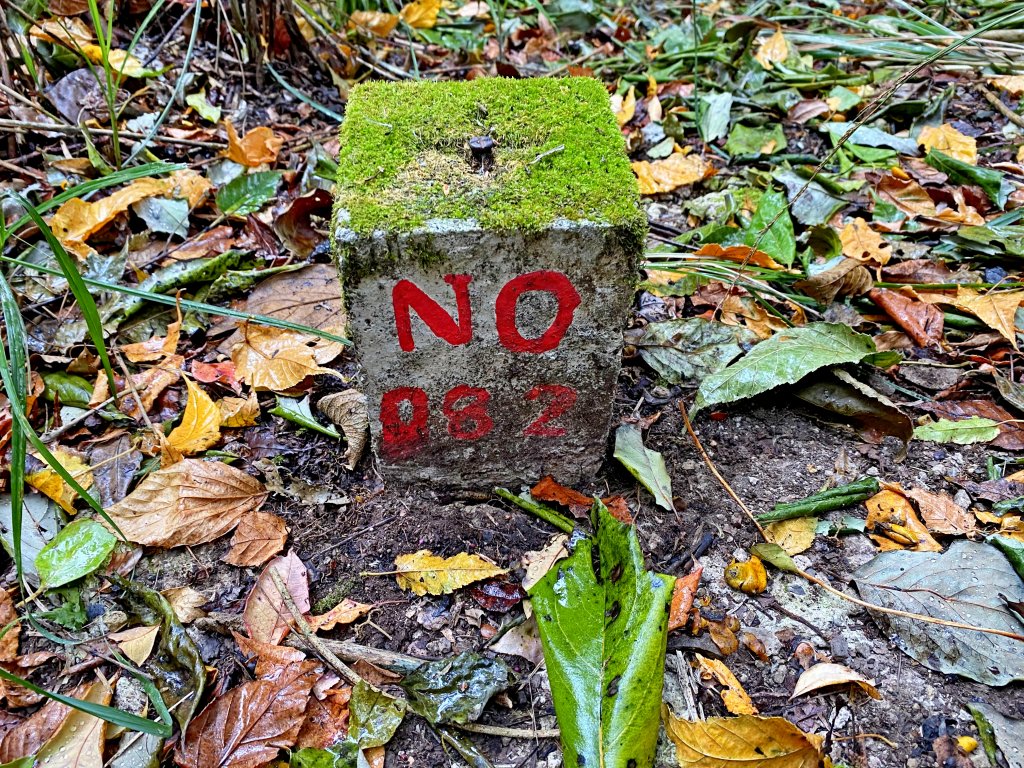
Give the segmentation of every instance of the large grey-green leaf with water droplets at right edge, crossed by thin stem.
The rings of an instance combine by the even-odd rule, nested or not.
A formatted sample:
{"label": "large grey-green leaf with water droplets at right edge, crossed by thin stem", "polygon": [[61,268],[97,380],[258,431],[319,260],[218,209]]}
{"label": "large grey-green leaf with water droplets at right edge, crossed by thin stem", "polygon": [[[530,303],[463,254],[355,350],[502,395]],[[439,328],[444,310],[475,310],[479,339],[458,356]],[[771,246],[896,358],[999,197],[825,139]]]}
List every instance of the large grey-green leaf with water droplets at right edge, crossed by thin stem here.
{"label": "large grey-green leaf with water droplets at right edge, crossed by thin stem", "polygon": [[[861,597],[877,605],[1021,632],[1006,600],[1024,600],[1024,582],[988,544],[957,541],[945,552],[884,552],[851,579]],[[1024,655],[1017,640],[886,613],[871,616],[900,650],[931,670],[986,685],[1024,679]]]}

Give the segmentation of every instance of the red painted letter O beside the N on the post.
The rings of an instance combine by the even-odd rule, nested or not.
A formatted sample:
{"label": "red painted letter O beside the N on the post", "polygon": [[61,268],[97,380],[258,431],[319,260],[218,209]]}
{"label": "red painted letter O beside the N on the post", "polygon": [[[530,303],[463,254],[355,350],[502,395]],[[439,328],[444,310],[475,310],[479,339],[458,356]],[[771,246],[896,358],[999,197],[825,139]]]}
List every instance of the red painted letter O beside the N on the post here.
{"label": "red painted letter O beside the N on the post", "polygon": [[[536,339],[524,338],[516,326],[515,309],[519,297],[530,291],[550,293],[558,301],[558,311],[548,330]],[[540,354],[554,349],[561,342],[568,327],[572,325],[572,314],[580,306],[580,294],[569,279],[561,272],[542,269],[513,278],[498,294],[495,301],[495,318],[498,324],[498,340],[513,352]]]}

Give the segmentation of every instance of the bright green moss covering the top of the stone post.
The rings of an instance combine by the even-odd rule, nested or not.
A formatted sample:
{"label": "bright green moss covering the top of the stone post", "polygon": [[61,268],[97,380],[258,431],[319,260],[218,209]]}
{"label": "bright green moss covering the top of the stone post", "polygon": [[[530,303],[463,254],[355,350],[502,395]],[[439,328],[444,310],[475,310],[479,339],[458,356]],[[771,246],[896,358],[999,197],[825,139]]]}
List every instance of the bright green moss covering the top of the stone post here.
{"label": "bright green moss covering the top of the stone post", "polygon": [[[486,173],[468,141],[495,140]],[[337,210],[361,234],[472,218],[539,229],[556,218],[627,227],[646,218],[608,95],[591,78],[368,83],[341,126]]]}

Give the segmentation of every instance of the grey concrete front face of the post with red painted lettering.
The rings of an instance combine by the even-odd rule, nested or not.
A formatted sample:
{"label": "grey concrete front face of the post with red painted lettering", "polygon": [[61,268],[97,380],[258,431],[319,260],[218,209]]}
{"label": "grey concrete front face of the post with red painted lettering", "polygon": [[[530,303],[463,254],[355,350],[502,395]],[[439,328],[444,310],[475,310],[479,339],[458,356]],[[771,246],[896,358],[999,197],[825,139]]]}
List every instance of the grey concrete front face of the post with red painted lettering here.
{"label": "grey concrete front face of the post with red painted lettering", "polygon": [[[336,245],[349,333],[366,376],[373,443],[384,475],[397,482],[476,489],[535,482],[545,474],[565,483],[593,476],[604,455],[635,282],[636,256],[624,242],[629,241],[615,228],[565,221],[528,233],[484,231],[465,222],[365,239],[340,229]],[[580,304],[557,347],[512,351],[500,338],[496,299],[509,281],[541,270],[564,274]],[[438,338],[414,310],[409,315],[415,349],[403,351],[393,305],[396,284],[411,281],[453,319],[464,322],[456,290],[444,280],[453,274],[472,279],[471,340],[453,345]],[[550,292],[522,293],[515,303],[521,337],[541,337],[558,306]],[[453,389],[466,386],[486,394],[473,390],[451,399]],[[396,452],[394,440],[383,434],[383,422],[393,422],[395,413],[382,415],[382,401],[399,387],[421,389],[428,415],[415,444]],[[415,396],[422,404],[422,395]],[[543,419],[573,398],[564,413]],[[467,406],[469,416],[460,416]],[[403,423],[414,420],[415,408],[400,404]]]}

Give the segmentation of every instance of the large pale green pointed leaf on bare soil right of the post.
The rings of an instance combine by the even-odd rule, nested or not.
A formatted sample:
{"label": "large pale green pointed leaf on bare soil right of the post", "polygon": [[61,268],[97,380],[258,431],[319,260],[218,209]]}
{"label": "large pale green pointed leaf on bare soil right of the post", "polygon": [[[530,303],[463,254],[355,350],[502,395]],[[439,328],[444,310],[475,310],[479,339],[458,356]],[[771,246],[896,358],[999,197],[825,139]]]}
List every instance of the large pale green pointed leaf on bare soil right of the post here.
{"label": "large pale green pointed leaf on bare soil right of the post", "polygon": [[809,323],[779,331],[700,382],[693,413],[793,384],[825,366],[859,362],[874,351],[870,336],[841,323]]}

